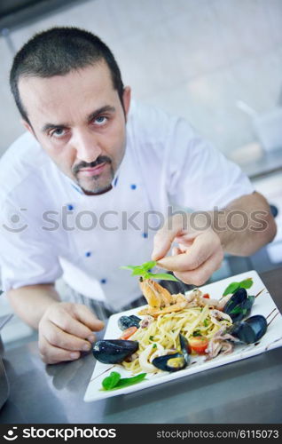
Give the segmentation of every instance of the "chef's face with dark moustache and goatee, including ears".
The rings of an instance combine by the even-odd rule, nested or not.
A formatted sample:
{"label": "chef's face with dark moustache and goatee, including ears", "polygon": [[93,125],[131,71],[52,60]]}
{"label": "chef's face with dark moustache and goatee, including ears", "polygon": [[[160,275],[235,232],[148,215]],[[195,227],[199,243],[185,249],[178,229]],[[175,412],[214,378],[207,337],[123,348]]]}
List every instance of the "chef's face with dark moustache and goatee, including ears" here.
{"label": "chef's face with dark moustache and goatee, including ears", "polygon": [[[85,193],[111,187],[124,155],[126,116],[104,61],[67,75],[23,77],[24,123],[54,163]],[[130,90],[123,104],[129,111]]]}

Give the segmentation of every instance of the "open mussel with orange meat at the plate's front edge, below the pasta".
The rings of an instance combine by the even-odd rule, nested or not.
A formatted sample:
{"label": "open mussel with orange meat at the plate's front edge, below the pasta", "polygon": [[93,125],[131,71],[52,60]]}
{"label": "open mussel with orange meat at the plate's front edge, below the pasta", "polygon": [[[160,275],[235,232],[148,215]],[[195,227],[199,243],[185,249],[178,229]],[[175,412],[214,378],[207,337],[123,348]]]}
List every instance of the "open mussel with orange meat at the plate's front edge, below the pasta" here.
{"label": "open mussel with orange meat at the plate's front edge, below the pasta", "polygon": [[188,341],[183,335],[179,335],[181,352],[169,353],[154,358],[152,364],[163,371],[178,371],[187,367],[190,358],[188,353]]}

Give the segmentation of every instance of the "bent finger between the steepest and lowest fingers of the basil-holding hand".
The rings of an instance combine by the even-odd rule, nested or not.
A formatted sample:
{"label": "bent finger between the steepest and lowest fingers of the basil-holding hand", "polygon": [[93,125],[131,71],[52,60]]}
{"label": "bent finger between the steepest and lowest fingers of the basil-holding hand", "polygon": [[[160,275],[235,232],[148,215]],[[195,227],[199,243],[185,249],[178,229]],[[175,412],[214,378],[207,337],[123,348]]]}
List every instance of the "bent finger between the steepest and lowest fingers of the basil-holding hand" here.
{"label": "bent finger between the steepest and lowest fingers of the basil-holding hand", "polygon": [[158,261],[158,266],[176,273],[195,270],[218,249],[221,250],[219,237],[212,231],[203,232],[197,235],[188,249],[185,250],[180,245],[180,248],[174,250],[178,254],[162,258]]}

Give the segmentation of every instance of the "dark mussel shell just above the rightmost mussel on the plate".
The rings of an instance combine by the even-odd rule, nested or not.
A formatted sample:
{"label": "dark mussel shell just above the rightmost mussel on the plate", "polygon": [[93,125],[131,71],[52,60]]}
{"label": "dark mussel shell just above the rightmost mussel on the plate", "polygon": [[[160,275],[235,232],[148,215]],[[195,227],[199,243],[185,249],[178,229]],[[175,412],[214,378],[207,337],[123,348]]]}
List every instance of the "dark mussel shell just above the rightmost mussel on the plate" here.
{"label": "dark mussel shell just above the rightmost mussel on the plate", "polygon": [[255,296],[247,296],[246,289],[238,289],[223,307],[223,313],[229,314],[233,322],[242,321],[250,313]]}

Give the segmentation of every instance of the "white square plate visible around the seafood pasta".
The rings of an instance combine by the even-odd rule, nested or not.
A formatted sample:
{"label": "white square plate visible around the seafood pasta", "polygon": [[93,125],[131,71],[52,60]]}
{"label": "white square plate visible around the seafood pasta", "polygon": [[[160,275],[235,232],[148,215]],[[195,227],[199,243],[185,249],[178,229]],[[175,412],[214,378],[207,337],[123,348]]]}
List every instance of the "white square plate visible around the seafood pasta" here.
{"label": "white square plate visible around the seafood pasta", "polygon": [[[253,305],[251,315],[262,314],[265,317],[269,316],[268,322],[270,322],[276,315],[275,319],[270,322],[270,326],[268,327],[265,335],[260,339],[258,343],[250,345],[236,345],[234,351],[231,354],[219,354],[219,356],[211,361],[205,361],[204,356],[193,357],[193,365],[190,364],[188,367],[186,367],[186,369],[179,370],[174,373],[163,372],[158,373],[157,375],[147,374],[145,380],[137,383],[136,385],[129,385],[128,387],[124,387],[122,389],[109,391],[101,390],[101,383],[105,377],[109,376],[111,371],[118,371],[121,374],[121,377],[131,377],[132,375],[129,371],[123,369],[121,365],[116,364],[113,366],[113,364],[102,364],[101,362],[97,361],[92,377],[90,378],[90,383],[85,392],[84,400],[86,402],[90,402],[92,400],[103,400],[105,398],[111,398],[112,396],[117,396],[120,394],[137,392],[138,390],[143,390],[153,385],[163,384],[167,381],[172,381],[180,377],[186,377],[200,371],[214,369],[215,367],[229,364],[230,362],[243,360],[251,356],[255,356],[255,354],[267,352],[272,348],[281,346],[282,315],[278,311],[278,307],[277,305],[275,305],[272,297],[270,297],[270,293],[265,288],[265,285],[263,284],[261,278],[255,271],[237,274],[236,276],[231,276],[227,279],[223,279],[222,281],[217,281],[209,285],[205,285],[200,289],[204,293],[209,293],[210,297],[219,299],[223,295],[224,289],[226,289],[226,287],[231,282],[243,281],[244,279],[247,279],[249,277],[253,278],[254,283],[251,289],[247,290],[248,294],[256,295],[257,293],[259,293],[259,291],[263,289],[262,293],[255,299],[255,304]],[[140,309],[141,307],[137,307],[133,310],[128,310],[127,312],[123,313],[116,313],[111,316],[107,324],[105,339],[116,339],[120,337],[121,329],[119,329],[117,324],[118,319],[121,317],[121,315],[124,314],[137,314]],[[95,360],[93,358],[93,365],[94,363]]]}

